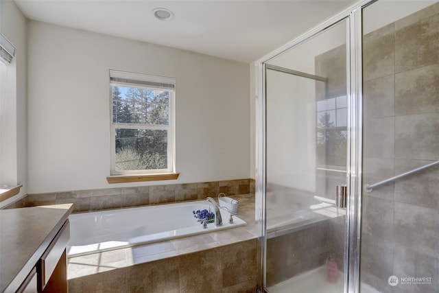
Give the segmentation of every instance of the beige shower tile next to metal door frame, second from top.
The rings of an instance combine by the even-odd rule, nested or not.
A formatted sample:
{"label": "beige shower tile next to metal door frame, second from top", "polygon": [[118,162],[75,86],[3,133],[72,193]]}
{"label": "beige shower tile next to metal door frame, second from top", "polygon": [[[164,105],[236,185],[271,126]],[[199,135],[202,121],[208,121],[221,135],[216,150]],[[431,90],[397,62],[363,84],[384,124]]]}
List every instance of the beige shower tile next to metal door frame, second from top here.
{"label": "beige shower tile next to metal door frame, second from top", "polygon": [[394,75],[364,82],[364,119],[394,116]]}

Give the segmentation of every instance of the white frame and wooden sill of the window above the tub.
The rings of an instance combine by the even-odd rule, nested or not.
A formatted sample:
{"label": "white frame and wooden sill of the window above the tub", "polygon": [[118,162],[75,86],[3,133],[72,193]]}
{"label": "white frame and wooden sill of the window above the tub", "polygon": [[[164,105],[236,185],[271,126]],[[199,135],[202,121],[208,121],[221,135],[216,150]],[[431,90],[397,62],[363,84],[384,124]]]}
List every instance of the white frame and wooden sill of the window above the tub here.
{"label": "white frame and wooden sill of the window above the tub", "polygon": [[[113,80],[112,80],[113,78]],[[114,80],[117,79],[117,80]],[[119,80],[119,81],[118,81]],[[126,81],[123,81],[126,80]],[[138,82],[138,83],[136,83]],[[150,84],[147,84],[150,83]],[[172,88],[165,88],[171,85]],[[113,121],[113,99],[112,87],[132,87],[136,89],[151,89],[159,91],[169,91],[169,117],[168,124],[124,124]],[[107,177],[108,183],[133,182],[132,178],[126,176],[134,176],[138,180],[167,180],[174,179],[175,176],[155,176],[157,174],[176,174],[175,164],[175,78],[167,78],[158,75],[148,75],[142,73],[130,73],[126,71],[109,71],[109,96],[110,96],[110,176]],[[116,130],[117,129],[139,129],[139,130],[167,130],[167,168],[165,169],[141,169],[141,170],[116,170]],[[143,178],[142,175],[152,176],[150,179]],[[120,181],[118,177],[125,178]],[[112,182],[110,182],[112,181]]]}

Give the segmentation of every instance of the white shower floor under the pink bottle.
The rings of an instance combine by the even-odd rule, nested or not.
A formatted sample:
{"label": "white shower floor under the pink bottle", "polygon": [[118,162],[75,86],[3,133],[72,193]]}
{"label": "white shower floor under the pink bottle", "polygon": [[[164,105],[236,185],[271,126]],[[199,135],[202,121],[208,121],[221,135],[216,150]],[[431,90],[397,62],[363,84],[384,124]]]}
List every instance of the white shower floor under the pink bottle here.
{"label": "white shower floor under the pink bottle", "polygon": [[[338,273],[337,283],[328,283],[326,281],[326,270],[322,266],[303,274],[299,274],[292,279],[288,279],[281,283],[277,283],[272,287],[267,288],[270,293],[341,293],[343,292],[343,274]],[[361,283],[361,293],[380,293],[370,285]]]}

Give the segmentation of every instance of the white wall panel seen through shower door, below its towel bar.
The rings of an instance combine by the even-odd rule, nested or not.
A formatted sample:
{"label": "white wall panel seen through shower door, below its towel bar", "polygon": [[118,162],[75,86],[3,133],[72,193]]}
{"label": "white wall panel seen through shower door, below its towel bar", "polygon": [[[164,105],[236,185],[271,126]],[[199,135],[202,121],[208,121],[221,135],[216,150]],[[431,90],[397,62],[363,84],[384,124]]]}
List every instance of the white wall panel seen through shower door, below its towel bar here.
{"label": "white wall panel seen through shower door, below its towel bar", "polygon": [[268,183],[316,191],[316,81],[269,70]]}

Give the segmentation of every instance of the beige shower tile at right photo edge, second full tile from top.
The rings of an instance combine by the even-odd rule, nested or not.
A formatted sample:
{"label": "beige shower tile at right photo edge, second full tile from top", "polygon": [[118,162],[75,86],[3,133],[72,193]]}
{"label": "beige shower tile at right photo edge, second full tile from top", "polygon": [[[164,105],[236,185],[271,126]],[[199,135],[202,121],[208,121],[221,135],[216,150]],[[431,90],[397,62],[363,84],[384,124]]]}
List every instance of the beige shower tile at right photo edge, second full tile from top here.
{"label": "beige shower tile at right photo edge, second full tile from top", "polygon": [[394,102],[396,116],[439,113],[439,64],[396,74]]}

